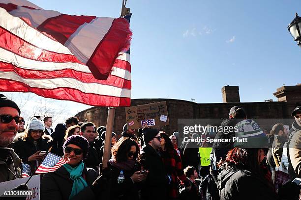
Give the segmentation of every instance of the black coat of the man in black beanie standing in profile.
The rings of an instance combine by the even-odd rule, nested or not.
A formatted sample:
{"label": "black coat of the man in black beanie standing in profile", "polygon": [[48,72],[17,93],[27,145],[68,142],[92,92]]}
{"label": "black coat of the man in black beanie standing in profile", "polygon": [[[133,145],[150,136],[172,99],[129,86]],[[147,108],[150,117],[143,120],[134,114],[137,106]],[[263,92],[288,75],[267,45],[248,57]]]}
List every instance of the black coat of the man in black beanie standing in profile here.
{"label": "black coat of the man in black beanie standing in profile", "polygon": [[149,145],[141,149],[141,165],[149,171],[142,186],[143,200],[166,200],[167,174],[160,155]]}

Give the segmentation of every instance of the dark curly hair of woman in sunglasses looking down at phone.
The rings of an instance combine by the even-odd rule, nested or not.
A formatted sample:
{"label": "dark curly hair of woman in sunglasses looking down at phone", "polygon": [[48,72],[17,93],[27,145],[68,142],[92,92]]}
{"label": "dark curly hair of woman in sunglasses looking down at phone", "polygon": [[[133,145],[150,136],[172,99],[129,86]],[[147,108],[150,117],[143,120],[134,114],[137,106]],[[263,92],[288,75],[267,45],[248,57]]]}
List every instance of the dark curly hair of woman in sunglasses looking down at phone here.
{"label": "dark curly hair of woman in sunglasses looking down at phone", "polygon": [[111,149],[112,159],[116,162],[127,161],[127,153],[131,150],[131,147],[136,147],[136,152],[138,153],[138,157],[140,154],[140,148],[137,142],[131,138],[123,138],[122,140],[115,143],[115,145]]}

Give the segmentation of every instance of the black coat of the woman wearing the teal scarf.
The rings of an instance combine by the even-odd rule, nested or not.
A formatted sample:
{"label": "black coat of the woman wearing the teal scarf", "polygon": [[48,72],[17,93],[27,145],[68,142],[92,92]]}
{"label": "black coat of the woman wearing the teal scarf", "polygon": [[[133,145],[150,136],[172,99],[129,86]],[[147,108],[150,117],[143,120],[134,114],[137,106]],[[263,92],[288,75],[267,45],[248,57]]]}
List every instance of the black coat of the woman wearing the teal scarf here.
{"label": "black coat of the woman wearing the teal scarf", "polygon": [[[95,170],[84,168],[83,175],[88,187],[78,193],[72,200],[95,200],[95,195],[91,189],[92,183],[97,178]],[[46,173],[41,180],[40,198],[41,200],[68,200],[72,191],[73,180],[70,173],[61,166],[57,171]]]}

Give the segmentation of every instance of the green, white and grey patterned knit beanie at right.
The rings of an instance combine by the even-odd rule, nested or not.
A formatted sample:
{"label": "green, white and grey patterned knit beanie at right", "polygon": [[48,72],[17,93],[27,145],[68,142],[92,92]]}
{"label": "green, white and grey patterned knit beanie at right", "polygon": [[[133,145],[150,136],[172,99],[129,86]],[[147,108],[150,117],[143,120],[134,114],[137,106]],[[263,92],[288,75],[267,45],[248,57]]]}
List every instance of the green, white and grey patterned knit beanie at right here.
{"label": "green, white and grey patterned knit beanie at right", "polygon": [[238,131],[235,137],[239,139],[246,138],[245,142],[234,141],[234,147],[239,148],[269,148],[268,137],[263,130],[253,120],[243,120],[237,125]]}

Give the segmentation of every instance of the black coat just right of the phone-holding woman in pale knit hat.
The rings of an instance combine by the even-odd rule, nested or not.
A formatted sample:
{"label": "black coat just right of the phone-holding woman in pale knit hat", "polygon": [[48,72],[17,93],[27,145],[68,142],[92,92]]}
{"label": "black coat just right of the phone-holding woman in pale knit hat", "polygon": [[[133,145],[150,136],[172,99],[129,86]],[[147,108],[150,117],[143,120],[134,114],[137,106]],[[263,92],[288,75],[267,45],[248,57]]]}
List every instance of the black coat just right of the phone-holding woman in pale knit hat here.
{"label": "black coat just right of the phone-holding woman in pale knit hat", "polygon": [[55,128],[55,131],[51,134],[51,137],[53,139],[51,150],[52,153],[56,155],[63,155],[62,145],[66,134],[66,130],[67,127],[65,124],[58,124]]}

